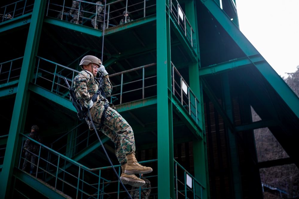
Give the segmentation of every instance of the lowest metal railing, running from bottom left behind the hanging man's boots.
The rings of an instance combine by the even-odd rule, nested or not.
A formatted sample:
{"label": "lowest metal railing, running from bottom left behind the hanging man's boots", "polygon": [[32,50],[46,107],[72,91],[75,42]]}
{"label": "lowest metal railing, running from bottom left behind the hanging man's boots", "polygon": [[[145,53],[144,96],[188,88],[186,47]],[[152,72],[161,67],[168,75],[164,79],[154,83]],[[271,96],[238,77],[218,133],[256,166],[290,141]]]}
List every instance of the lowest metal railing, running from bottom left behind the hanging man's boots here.
{"label": "lowest metal railing, running from bottom left behind the hanging man's boots", "polygon": [[[48,186],[50,189],[56,192],[63,192],[71,198],[103,198],[105,195],[105,197],[122,198],[127,195],[115,176],[112,166],[90,169],[22,133],[20,135],[23,136],[23,143],[26,139],[29,139],[39,146],[39,152],[36,154],[27,151],[31,155],[36,156],[36,162],[33,163],[36,169],[33,171],[32,176],[39,181],[45,182],[45,186]],[[22,169],[22,163],[26,161],[22,157],[23,150],[21,149],[19,157],[19,169]],[[49,154],[56,156],[57,160],[48,161],[47,156]],[[150,160],[140,163],[147,165],[148,163],[156,162],[157,160]],[[66,166],[69,164],[71,166]],[[120,175],[121,166],[114,165],[113,167]],[[154,179],[153,181],[156,181],[157,175],[147,176],[147,178],[152,178]],[[152,187],[152,189],[157,189],[157,187]]]}

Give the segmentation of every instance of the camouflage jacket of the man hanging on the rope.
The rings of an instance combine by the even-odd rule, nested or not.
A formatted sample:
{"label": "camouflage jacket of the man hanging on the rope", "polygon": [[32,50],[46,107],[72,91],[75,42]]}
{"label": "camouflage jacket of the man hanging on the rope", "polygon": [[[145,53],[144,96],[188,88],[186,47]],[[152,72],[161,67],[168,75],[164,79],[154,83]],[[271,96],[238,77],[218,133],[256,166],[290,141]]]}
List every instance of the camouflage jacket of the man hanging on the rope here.
{"label": "camouflage jacket of the man hanging on the rope", "polygon": [[[80,104],[84,106],[84,101],[89,102],[89,100],[91,100],[92,96],[97,92],[100,84],[98,81],[96,81],[96,78],[94,78],[91,72],[82,70],[74,78],[74,86],[76,90],[76,97],[80,101]],[[112,84],[110,83],[108,75],[103,78],[102,88],[106,94],[106,97],[111,95]],[[102,95],[99,95],[97,103],[100,103],[102,106],[104,104],[109,104],[109,101]]]}

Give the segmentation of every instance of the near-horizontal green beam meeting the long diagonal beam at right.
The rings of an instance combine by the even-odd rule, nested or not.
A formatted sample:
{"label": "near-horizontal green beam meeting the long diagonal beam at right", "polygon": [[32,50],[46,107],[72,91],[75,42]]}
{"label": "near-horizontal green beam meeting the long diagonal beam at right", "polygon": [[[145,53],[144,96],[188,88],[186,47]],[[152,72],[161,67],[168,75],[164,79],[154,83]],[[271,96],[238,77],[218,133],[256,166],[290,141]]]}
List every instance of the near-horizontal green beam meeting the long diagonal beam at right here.
{"label": "near-horizontal green beam meeting the long diagonal beam at right", "polygon": [[202,78],[206,76],[217,75],[222,72],[229,72],[238,68],[252,66],[252,62],[259,63],[261,61],[263,62],[265,61],[265,59],[260,55],[253,55],[251,56],[251,58],[244,57],[239,59],[233,59],[224,63],[214,64],[208,67],[200,68],[199,77]]}

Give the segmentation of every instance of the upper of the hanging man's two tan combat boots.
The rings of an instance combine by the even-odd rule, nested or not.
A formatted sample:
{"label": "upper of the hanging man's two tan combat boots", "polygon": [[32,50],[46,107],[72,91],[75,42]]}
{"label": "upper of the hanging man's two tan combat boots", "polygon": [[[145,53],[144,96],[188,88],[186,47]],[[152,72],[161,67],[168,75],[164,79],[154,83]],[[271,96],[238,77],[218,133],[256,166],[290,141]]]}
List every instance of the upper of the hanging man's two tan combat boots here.
{"label": "upper of the hanging man's two tan combat boots", "polygon": [[152,172],[152,168],[147,167],[147,166],[141,166],[136,158],[135,158],[135,153],[131,153],[129,155],[126,155],[127,159],[127,165],[126,165],[126,170],[125,174],[132,175],[132,174],[146,174]]}

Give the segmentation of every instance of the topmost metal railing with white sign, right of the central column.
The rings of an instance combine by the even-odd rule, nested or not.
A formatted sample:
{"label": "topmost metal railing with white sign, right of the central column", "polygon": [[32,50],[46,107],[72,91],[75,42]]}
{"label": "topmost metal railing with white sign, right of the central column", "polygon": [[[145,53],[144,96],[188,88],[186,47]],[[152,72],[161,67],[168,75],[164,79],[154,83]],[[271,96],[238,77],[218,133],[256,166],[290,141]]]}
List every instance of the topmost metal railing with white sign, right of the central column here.
{"label": "topmost metal railing with white sign, right of the central column", "polygon": [[183,30],[184,35],[193,47],[192,34],[195,32],[177,0],[170,1],[170,13],[173,14],[174,18],[176,19],[176,22],[178,22],[178,25]]}

